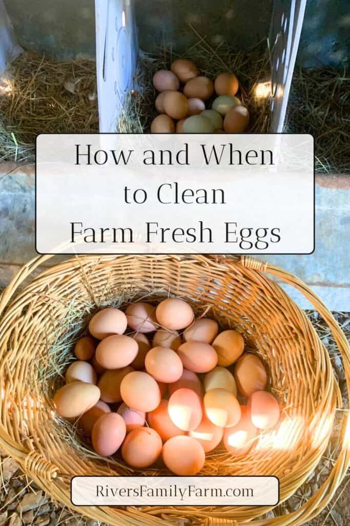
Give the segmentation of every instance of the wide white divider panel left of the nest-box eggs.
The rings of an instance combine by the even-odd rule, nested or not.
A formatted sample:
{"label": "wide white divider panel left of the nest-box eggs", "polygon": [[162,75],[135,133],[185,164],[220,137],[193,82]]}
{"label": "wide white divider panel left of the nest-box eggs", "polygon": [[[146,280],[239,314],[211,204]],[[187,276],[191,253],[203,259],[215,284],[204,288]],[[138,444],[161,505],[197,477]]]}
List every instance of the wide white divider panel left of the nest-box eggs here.
{"label": "wide white divider panel left of the nest-box eggs", "polygon": [[132,0],[96,0],[96,67],[100,131],[115,131],[136,68]]}

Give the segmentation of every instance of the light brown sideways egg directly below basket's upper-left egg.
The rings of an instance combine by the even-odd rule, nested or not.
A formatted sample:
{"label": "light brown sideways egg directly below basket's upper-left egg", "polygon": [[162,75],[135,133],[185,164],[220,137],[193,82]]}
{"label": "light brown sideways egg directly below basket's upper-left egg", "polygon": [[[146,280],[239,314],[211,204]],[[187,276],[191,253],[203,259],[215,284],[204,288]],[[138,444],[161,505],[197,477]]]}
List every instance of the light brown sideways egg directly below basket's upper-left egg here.
{"label": "light brown sideways egg directly below basket's upper-left egg", "polygon": [[96,349],[96,359],[105,369],[121,369],[130,365],[139,352],[134,338],[125,335],[113,335],[104,338]]}

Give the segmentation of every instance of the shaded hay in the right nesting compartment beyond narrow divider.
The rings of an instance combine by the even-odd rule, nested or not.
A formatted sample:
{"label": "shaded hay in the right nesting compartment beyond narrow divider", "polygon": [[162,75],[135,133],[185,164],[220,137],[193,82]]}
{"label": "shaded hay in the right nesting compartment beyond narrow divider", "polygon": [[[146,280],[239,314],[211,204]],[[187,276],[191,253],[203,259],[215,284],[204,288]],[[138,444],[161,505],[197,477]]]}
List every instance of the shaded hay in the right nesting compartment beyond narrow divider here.
{"label": "shaded hay in the right nesting compartment beyond narrow divider", "polygon": [[348,72],[295,69],[285,128],[314,136],[317,173],[350,174]]}

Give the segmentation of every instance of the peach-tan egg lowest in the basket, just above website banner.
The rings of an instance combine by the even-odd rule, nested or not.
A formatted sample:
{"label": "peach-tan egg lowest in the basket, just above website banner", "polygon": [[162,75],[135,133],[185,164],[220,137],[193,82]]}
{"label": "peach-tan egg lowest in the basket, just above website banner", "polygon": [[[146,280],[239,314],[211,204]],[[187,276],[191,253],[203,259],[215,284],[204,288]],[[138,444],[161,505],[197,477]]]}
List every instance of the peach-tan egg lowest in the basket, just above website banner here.
{"label": "peach-tan egg lowest in the basket, just above website banner", "polygon": [[163,446],[163,460],[176,475],[193,476],[203,468],[205,452],[193,437],[173,437]]}

